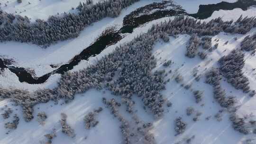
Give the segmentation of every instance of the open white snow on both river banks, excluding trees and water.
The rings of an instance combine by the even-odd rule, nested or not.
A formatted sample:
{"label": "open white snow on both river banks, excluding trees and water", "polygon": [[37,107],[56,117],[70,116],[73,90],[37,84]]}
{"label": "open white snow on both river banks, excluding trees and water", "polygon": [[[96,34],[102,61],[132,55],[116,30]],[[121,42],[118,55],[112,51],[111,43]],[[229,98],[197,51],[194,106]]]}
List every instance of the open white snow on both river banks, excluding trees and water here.
{"label": "open white snow on both river banks, excluding trees and water", "polygon": [[[1,3],[3,3],[0,0]],[[23,0],[24,2],[26,0]],[[29,0],[31,5],[33,5],[33,0]],[[38,4],[38,8],[41,3],[47,3],[48,0],[34,0]],[[71,9],[77,5],[80,0],[52,0],[48,1],[48,6],[41,8],[44,11],[47,9],[55,9],[56,7],[62,6],[63,8],[56,8],[46,14],[40,14],[40,12],[31,14],[31,18],[44,18],[46,15],[54,14],[55,12],[61,12]],[[81,0],[82,1],[82,0]],[[144,6],[146,4],[152,3],[156,0],[141,0],[122,10],[121,15],[118,18],[104,18],[99,22],[94,23],[92,26],[85,28],[79,37],[64,42],[59,42],[56,45],[51,45],[47,49],[42,49],[36,45],[17,43],[17,42],[6,42],[0,43],[0,55],[5,55],[6,57],[13,58],[17,63],[14,65],[19,67],[34,69],[37,76],[44,75],[47,72],[54,70],[49,65],[50,64],[63,64],[67,63],[74,55],[79,54],[83,48],[89,46],[95,38],[106,28],[116,25],[118,28],[122,25],[122,20],[124,16],[129,14],[131,11]],[[161,1],[161,0],[157,0]],[[175,0],[177,3],[181,4],[184,9],[188,12],[197,12],[199,4],[217,3],[221,0]],[[233,2],[235,0],[227,0]],[[13,3],[15,8],[21,9],[16,0],[9,0],[9,3]],[[68,4],[72,3],[73,5]],[[50,6],[51,4],[51,6]],[[65,6],[64,6],[65,5]],[[1,9],[3,6],[1,6]],[[26,8],[31,8],[31,12],[37,8],[37,5],[26,6]],[[5,8],[6,11],[14,10],[10,6]],[[4,9],[4,10],[5,10]],[[39,11],[40,11],[39,10]],[[28,9],[27,9],[27,13]],[[23,13],[22,13],[23,14]],[[238,19],[240,15],[243,16],[256,16],[256,8],[250,8],[247,11],[241,9],[233,10],[219,10],[215,11],[210,18],[205,19],[209,21],[212,18],[222,17],[225,20]],[[173,17],[160,18],[146,23],[145,25],[134,29],[132,34],[126,34],[127,36],[120,40],[117,44],[111,45],[96,56],[90,57],[88,61],[83,60],[77,66],[74,67],[72,71],[78,71],[80,69],[86,68],[90,64],[96,63],[97,60],[101,59],[104,55],[111,53],[116,46],[124,44],[132,40],[135,36],[140,33],[146,33],[147,30],[156,23],[163,22]],[[232,35],[226,33],[220,33],[217,36],[212,37],[212,45],[216,42],[214,39],[219,39],[219,47],[213,52],[209,52],[206,60],[201,60],[198,56],[193,59],[187,58],[185,56],[186,44],[190,38],[189,35],[178,35],[176,38],[170,36],[170,41],[158,42],[155,44],[153,49],[153,54],[157,59],[157,66],[153,71],[164,69],[163,63],[168,60],[174,62],[171,66],[165,68],[169,73],[165,79],[170,79],[170,82],[166,84],[166,90],[162,91],[165,99],[172,102],[172,107],[165,106],[164,117],[155,120],[150,112],[146,112],[143,109],[143,102],[140,98],[136,96],[132,97],[135,103],[135,109],[137,116],[146,122],[152,122],[154,129],[150,132],[155,135],[155,140],[157,144],[175,144],[176,142],[182,141],[180,144],[186,144],[186,139],[195,135],[191,144],[246,144],[246,140],[256,139],[256,135],[243,135],[235,131],[229,120],[229,113],[224,111],[222,121],[217,121],[214,117],[216,113],[222,108],[219,103],[213,98],[213,88],[211,85],[205,83],[204,72],[210,70],[211,67],[217,66],[217,61],[220,57],[229,54],[233,49],[240,47],[240,42],[243,38],[249,34],[256,32],[256,28],[253,28],[250,32],[245,35]],[[237,37],[238,40],[234,40]],[[224,45],[226,41],[229,41],[227,45]],[[200,48],[202,50],[202,48]],[[245,76],[249,78],[252,90],[256,90],[256,72],[252,71],[256,68],[256,57],[251,56],[246,53],[246,65],[243,69]],[[199,73],[202,74],[200,81],[195,81],[192,76],[193,69],[197,67]],[[190,90],[185,90],[180,84],[177,84],[174,80],[177,74],[182,74],[184,77],[184,83],[192,83],[193,90],[202,90],[203,99],[198,104],[195,102],[193,93]],[[57,85],[60,75],[55,74],[51,76],[43,84],[27,84],[18,81],[18,77],[6,70],[2,76],[0,76],[0,86],[1,87],[14,87],[20,89],[27,89],[29,91],[37,90],[38,88],[54,88]],[[239,104],[241,107],[238,109],[238,114],[240,116],[245,116],[253,114],[251,117],[256,120],[256,97],[250,98],[248,94],[243,93],[241,90],[236,90],[226,81],[221,81],[221,86],[226,90],[227,95],[233,95],[239,99]],[[8,99],[0,101],[0,113],[3,113],[3,108],[12,108],[14,112],[10,115],[10,118],[3,119],[0,117],[0,144],[40,144],[40,141],[45,141],[46,134],[50,133],[53,128],[56,129],[57,136],[52,140],[52,144],[123,144],[123,136],[119,128],[120,122],[117,118],[110,114],[110,110],[105,108],[102,103],[102,97],[107,99],[115,98],[120,102],[120,99],[113,96],[110,91],[106,90],[95,90],[91,89],[83,94],[78,94],[75,99],[68,103],[63,104],[60,101],[58,105],[50,101],[46,104],[39,104],[34,107],[35,118],[31,122],[25,122],[22,116],[22,108],[20,106],[14,106],[13,103],[9,102]],[[199,121],[194,122],[192,120],[193,116],[186,115],[186,108],[192,106],[196,111],[201,112]],[[93,109],[102,107],[103,111],[97,116],[99,124],[90,130],[85,129],[83,117],[88,114]],[[120,113],[124,117],[130,120],[130,115],[126,112],[125,106],[122,105],[119,109]],[[40,125],[37,122],[36,114],[38,112],[46,112],[47,119],[45,125]],[[75,130],[75,138],[70,138],[61,132],[60,125],[60,114],[64,112],[67,114],[67,123]],[[4,128],[4,124],[9,122],[14,114],[18,114],[20,118],[17,129],[8,132],[8,129]],[[174,136],[174,119],[176,117],[183,117],[183,120],[187,123],[187,128],[185,132],[181,135]],[[206,117],[211,116],[210,120],[205,120]],[[6,134],[9,133],[9,134]],[[256,140],[252,144],[256,144]]]}

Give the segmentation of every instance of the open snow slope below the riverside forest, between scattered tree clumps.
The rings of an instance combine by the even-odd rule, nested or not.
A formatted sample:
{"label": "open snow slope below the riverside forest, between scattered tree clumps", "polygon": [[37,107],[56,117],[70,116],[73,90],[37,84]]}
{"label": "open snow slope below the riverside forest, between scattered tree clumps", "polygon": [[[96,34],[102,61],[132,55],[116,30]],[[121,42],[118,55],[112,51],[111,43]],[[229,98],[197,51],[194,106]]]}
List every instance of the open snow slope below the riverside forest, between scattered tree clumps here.
{"label": "open snow slope below the riverside forest, between scattered tree clumps", "polygon": [[[256,28],[251,30],[248,34],[256,32]],[[237,41],[233,38],[238,37]],[[162,91],[165,99],[170,100],[173,106],[170,108],[165,107],[165,116],[159,120],[155,120],[152,114],[145,112],[143,109],[143,104],[139,98],[136,96],[133,99],[136,101],[137,115],[140,119],[148,122],[153,122],[154,129],[151,131],[155,135],[157,144],[174,144],[178,141],[185,141],[187,138],[195,135],[192,140],[192,144],[243,144],[247,138],[253,138],[254,135],[243,135],[234,131],[229,121],[228,112],[224,111],[223,120],[217,121],[214,115],[222,109],[217,101],[213,99],[213,90],[209,84],[204,83],[204,77],[200,81],[193,80],[192,71],[195,67],[198,67],[199,73],[205,72],[205,68],[210,69],[212,66],[216,66],[216,61],[223,55],[229,54],[229,52],[239,47],[239,43],[243,39],[243,35],[230,35],[225,33],[220,33],[214,36],[213,39],[219,38],[219,47],[209,56],[206,60],[202,61],[199,57],[189,59],[185,57],[186,43],[190,36],[179,35],[177,38],[170,37],[170,42],[158,42],[153,49],[153,54],[157,59],[157,67],[155,70],[164,69],[163,63],[165,60],[172,60],[174,63],[165,68],[166,71],[172,70],[171,74],[165,77],[165,80],[170,79],[170,82],[166,84],[166,90]],[[223,45],[227,40],[229,40],[228,45]],[[214,45],[214,43],[213,43]],[[226,50],[226,51],[224,51]],[[211,60],[212,59],[212,60]],[[250,72],[256,64],[253,63],[255,57],[247,54],[245,72]],[[201,103],[197,104],[193,97],[191,90],[185,90],[180,84],[174,81],[174,77],[178,74],[184,76],[184,83],[193,83],[193,90],[204,91],[204,98]],[[255,76],[246,74],[250,78],[250,87],[256,89]],[[222,81],[221,85],[228,94],[234,95],[236,98],[240,99],[239,102],[242,107],[238,110],[241,115],[245,115],[248,112],[253,112],[256,115],[256,111],[253,110],[253,106],[256,102],[256,97],[248,99],[247,94],[242,93],[241,90],[235,90],[225,81]],[[35,107],[35,114],[41,111],[46,111],[49,117],[46,120],[46,125],[41,126],[34,118],[31,122],[26,123],[21,118],[18,128],[14,131],[9,132],[8,135],[6,129],[0,132],[0,143],[1,144],[35,144],[39,140],[43,140],[45,134],[49,133],[52,128],[56,128],[57,137],[54,138],[53,144],[122,144],[122,135],[120,134],[119,122],[116,118],[110,115],[109,109],[105,108],[101,102],[101,98],[106,97],[107,99],[115,98],[119,99],[110,94],[109,91],[103,92],[103,90],[89,90],[83,94],[79,94],[75,99],[68,104],[62,105],[59,102],[58,105],[54,105],[53,102],[46,104],[40,104]],[[119,99],[120,100],[120,99]],[[20,107],[12,106],[7,100],[0,102],[0,108],[4,108],[4,105],[12,107],[12,109],[18,108],[14,113],[18,113],[22,117]],[[203,104],[203,105],[202,105]],[[189,106],[195,108],[195,110],[202,112],[199,121],[194,122],[192,120],[193,116],[186,116],[185,109]],[[99,114],[98,119],[100,121],[99,125],[92,128],[91,130],[85,130],[82,118],[89,111],[94,108],[102,107],[103,112]],[[39,109],[37,109],[39,108]],[[49,110],[51,109],[51,110]],[[60,113],[65,112],[68,115],[68,124],[75,129],[76,137],[69,138],[61,133],[60,124],[58,120],[60,119]],[[13,114],[14,114],[13,113]],[[123,115],[128,115],[125,108],[121,108],[121,113]],[[185,133],[179,136],[174,136],[174,119],[176,117],[183,117],[183,120],[188,124]],[[209,121],[205,118],[211,116]],[[70,117],[70,118],[69,118]],[[8,119],[11,120],[11,119]],[[2,119],[0,117],[0,126],[3,127],[4,123],[8,120]],[[26,135],[23,136],[26,132]],[[84,139],[87,136],[87,139]]]}

